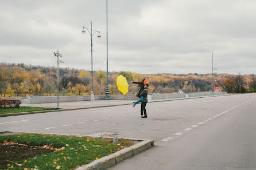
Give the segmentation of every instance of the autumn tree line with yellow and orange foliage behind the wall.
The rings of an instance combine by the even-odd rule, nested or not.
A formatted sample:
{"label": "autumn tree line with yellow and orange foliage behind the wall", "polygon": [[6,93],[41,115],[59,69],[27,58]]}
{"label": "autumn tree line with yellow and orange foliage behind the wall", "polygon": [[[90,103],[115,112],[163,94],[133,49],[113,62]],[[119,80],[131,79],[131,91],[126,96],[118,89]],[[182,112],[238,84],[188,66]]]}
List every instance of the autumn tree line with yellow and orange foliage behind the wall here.
{"label": "autumn tree line with yellow and orange foliage behind the wall", "polygon": [[[212,90],[212,74],[138,74],[131,72],[109,72],[110,94],[121,94],[117,88],[117,77],[122,74],[127,81],[142,81],[147,78],[149,93],[202,92]],[[59,68],[60,95],[90,95],[91,72],[71,68]],[[93,72],[93,90],[104,94],[106,72]],[[256,92],[256,75],[217,74],[214,86],[222,86],[228,93]],[[138,85],[129,84],[129,93],[136,94]],[[57,69],[55,67],[24,64],[0,64],[1,96],[54,96],[57,93]]]}

